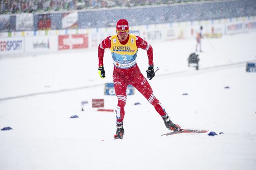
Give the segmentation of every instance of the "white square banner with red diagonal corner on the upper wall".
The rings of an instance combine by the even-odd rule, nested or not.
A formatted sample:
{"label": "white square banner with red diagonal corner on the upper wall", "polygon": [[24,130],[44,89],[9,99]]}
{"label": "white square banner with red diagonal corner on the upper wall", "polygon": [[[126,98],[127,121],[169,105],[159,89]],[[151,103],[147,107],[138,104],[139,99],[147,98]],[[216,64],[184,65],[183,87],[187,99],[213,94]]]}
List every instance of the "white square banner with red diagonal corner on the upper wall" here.
{"label": "white square banner with red diagonal corner on the upper wall", "polygon": [[78,13],[62,14],[62,29],[78,28]]}

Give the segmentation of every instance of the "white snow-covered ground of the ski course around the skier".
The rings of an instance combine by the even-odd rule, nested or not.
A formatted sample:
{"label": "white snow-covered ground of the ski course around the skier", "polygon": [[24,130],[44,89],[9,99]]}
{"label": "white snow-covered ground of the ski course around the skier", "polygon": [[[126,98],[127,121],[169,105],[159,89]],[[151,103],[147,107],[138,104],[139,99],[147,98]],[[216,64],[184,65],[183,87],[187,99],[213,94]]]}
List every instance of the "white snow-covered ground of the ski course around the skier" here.
{"label": "white snow-covered ground of the ski course around the skier", "polygon": [[[199,70],[188,67],[195,40],[152,43],[149,81],[174,123],[217,136],[168,132],[138,91],[128,96],[125,136],[114,140],[115,113],[91,108],[104,98],[113,64],[105,52],[107,78],[98,76],[97,49],[0,59],[0,170],[255,170],[256,32],[202,40]],[[146,76],[148,59],[137,63]],[[229,86],[229,88],[224,88]],[[182,95],[188,93],[188,95]],[[81,111],[81,101],[89,101]],[[140,102],[141,105],[134,105]],[[72,115],[79,118],[70,119]]]}

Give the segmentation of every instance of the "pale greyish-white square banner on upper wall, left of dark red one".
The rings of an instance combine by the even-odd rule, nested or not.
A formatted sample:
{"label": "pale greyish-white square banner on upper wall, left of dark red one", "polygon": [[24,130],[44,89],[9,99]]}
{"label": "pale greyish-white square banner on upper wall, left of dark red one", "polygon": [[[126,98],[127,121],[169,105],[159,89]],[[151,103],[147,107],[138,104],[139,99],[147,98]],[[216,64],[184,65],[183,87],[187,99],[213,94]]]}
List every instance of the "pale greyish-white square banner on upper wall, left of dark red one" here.
{"label": "pale greyish-white square banner on upper wall, left of dark red one", "polygon": [[22,13],[16,15],[16,31],[33,30],[33,13]]}

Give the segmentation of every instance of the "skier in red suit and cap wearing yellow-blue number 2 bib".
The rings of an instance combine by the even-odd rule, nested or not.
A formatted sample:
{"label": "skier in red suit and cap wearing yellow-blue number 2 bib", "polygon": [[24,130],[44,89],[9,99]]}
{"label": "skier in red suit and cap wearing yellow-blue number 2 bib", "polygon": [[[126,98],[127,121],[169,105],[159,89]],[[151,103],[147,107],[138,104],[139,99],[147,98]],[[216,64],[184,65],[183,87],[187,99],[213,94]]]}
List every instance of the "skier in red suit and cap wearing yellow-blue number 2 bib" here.
{"label": "skier in red suit and cap wearing yellow-blue number 2 bib", "polygon": [[148,55],[148,70],[147,77],[151,80],[155,76],[153,65],[153,49],[145,40],[139,36],[129,34],[128,21],[120,19],[116,23],[116,35],[109,36],[104,39],[98,47],[99,57],[99,75],[105,77],[103,67],[104,49],[109,48],[112,53],[114,62],[113,81],[115,86],[115,94],[117,96],[116,107],[116,134],[114,139],[123,139],[123,119],[124,107],[126,104],[126,88],[130,84],[135,87],[150,104],[155,107],[155,110],[162,116],[165,126],[169,130],[179,131],[180,126],[175,125],[165,112],[164,107],[156,99],[153,90],[150,87],[146,78],[141,74],[141,71],[136,63],[138,48],[147,51]]}

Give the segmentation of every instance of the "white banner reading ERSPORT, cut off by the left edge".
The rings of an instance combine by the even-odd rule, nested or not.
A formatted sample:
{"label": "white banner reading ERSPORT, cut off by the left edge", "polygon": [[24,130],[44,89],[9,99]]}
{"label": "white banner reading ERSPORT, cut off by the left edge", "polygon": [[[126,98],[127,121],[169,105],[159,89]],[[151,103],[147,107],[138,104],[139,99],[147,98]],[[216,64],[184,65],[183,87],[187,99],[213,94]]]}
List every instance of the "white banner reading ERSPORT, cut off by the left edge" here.
{"label": "white banner reading ERSPORT, cut off by the left edge", "polygon": [[1,38],[0,39],[0,55],[23,53],[24,52],[24,38]]}

